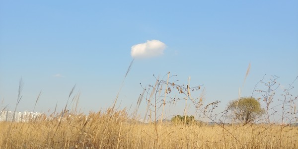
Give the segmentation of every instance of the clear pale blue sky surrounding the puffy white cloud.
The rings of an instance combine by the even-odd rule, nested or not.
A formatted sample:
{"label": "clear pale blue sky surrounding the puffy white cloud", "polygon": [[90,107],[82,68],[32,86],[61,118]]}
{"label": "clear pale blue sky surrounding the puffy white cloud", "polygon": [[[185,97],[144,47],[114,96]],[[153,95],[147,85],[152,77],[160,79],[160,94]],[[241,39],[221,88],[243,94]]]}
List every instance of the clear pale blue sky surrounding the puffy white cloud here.
{"label": "clear pale blue sky surrounding the puffy white cloud", "polygon": [[[155,57],[133,60],[132,46],[158,40]],[[244,87],[248,65],[250,73]],[[17,111],[53,112],[74,84],[83,112],[135,106],[152,74],[177,74],[181,84],[204,84],[205,103],[250,96],[266,74],[283,89],[298,75],[297,0],[0,0],[0,100]],[[293,93],[298,94],[298,81]],[[184,102],[171,114],[183,114]],[[140,113],[144,113],[143,101]],[[190,105],[190,108],[193,106]]]}

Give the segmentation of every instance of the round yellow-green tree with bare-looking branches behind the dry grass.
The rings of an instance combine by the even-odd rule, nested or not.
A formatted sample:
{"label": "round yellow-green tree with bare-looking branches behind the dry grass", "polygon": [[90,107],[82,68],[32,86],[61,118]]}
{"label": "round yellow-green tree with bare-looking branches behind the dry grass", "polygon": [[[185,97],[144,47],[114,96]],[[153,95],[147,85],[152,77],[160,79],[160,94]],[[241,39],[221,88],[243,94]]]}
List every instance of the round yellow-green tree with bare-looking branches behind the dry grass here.
{"label": "round yellow-green tree with bare-looking branches behind the dry grass", "polygon": [[242,97],[240,100],[232,100],[228,103],[230,118],[239,123],[247,124],[260,118],[265,110],[254,97]]}

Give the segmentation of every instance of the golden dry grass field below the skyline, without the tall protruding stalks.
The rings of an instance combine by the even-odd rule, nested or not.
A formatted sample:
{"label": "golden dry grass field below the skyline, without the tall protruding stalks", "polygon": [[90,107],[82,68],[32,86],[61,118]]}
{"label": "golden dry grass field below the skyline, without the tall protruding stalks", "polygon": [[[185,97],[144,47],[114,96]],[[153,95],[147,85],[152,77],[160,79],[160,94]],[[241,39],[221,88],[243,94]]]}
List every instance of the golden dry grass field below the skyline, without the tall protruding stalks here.
{"label": "golden dry grass field below the skyline, without the tall protruding stalks", "polygon": [[1,122],[0,149],[297,149],[298,127],[206,126],[129,119],[125,110]]}

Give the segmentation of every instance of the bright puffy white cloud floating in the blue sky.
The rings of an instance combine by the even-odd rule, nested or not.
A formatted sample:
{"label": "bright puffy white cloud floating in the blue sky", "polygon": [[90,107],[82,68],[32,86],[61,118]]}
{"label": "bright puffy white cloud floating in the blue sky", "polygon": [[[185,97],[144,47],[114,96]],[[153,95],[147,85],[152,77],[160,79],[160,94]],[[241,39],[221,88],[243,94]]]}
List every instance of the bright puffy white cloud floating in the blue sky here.
{"label": "bright puffy white cloud floating in the blue sky", "polygon": [[166,45],[159,40],[147,40],[146,43],[141,43],[132,46],[131,56],[133,58],[151,58],[163,54]]}

